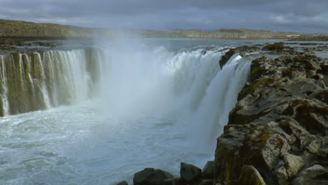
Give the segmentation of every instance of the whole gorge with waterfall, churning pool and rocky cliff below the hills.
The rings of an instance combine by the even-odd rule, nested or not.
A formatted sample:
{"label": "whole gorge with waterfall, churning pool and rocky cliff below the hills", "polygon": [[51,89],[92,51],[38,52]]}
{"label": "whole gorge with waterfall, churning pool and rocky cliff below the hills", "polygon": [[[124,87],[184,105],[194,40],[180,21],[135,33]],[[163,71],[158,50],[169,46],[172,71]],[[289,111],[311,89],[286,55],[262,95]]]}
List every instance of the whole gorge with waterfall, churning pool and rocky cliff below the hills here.
{"label": "whole gorge with waterfall, churning pool and rocky cliff below the hills", "polygon": [[[326,183],[327,43],[281,41],[4,46],[0,183],[150,185],[146,167],[174,174],[154,184]],[[177,177],[207,160],[210,181]]]}

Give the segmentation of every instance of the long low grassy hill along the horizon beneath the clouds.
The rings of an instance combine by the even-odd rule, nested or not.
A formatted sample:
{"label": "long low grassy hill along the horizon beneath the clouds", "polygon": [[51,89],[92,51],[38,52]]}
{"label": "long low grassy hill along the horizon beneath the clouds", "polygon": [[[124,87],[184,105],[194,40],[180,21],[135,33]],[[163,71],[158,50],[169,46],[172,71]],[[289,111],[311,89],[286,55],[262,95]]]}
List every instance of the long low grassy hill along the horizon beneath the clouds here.
{"label": "long low grassy hill along the horizon beneath the clouds", "polygon": [[0,20],[0,38],[20,39],[89,39],[93,36],[114,36],[116,34],[137,34],[142,37],[186,37],[220,39],[309,39],[312,34],[295,32],[272,32],[257,29],[218,29],[203,31],[200,29],[111,29],[88,28],[50,23],[34,23],[19,20]]}

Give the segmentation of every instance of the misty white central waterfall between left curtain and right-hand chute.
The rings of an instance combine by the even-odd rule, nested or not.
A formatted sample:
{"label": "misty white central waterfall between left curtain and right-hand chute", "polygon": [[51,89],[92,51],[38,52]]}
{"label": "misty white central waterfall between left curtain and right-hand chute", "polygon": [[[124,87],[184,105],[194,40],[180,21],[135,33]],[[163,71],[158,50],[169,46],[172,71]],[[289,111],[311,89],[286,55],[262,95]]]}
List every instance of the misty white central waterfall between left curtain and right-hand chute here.
{"label": "misty white central waterfall between left curtain and right-hand chute", "polygon": [[219,49],[107,48],[111,62],[103,76],[102,103],[120,118],[195,111],[219,71],[224,53]]}

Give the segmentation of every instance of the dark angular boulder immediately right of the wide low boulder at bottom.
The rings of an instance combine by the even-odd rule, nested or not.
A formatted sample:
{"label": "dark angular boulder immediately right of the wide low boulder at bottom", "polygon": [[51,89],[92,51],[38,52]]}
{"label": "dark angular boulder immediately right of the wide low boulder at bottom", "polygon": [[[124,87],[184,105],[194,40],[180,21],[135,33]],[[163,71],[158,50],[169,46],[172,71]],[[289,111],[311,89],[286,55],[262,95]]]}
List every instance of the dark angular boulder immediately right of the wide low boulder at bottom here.
{"label": "dark angular boulder immediately right of the wide low boulder at bottom", "polygon": [[188,163],[181,163],[180,177],[187,183],[196,181],[201,177],[202,170],[199,167]]}

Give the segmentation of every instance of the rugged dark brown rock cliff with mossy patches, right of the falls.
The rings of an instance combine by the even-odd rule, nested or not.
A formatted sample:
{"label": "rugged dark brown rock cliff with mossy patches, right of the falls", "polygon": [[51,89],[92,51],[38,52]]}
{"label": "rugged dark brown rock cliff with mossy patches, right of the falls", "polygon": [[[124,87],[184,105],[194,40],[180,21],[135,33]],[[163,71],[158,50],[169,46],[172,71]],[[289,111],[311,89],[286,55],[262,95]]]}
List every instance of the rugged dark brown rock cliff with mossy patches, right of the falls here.
{"label": "rugged dark brown rock cliff with mossy patches, right of the falls", "polygon": [[245,178],[254,184],[328,184],[327,67],[314,55],[252,62],[249,81],[217,139],[214,184]]}

